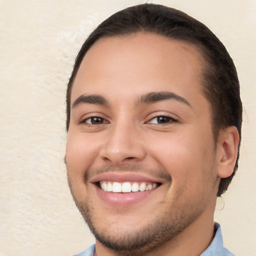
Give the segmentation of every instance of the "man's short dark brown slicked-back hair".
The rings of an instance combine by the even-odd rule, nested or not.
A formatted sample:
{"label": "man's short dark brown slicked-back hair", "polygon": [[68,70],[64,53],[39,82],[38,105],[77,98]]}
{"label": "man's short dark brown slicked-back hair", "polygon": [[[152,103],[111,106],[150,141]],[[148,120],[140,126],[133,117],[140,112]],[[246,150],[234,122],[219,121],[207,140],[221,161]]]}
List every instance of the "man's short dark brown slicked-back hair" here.
{"label": "man's short dark brown slicked-back hair", "polygon": [[[210,102],[212,130],[217,141],[219,130],[234,125],[241,136],[242,103],[234,63],[220,40],[202,23],[189,15],[162,5],[141,4],[114,13],[104,20],[83,43],[74,63],[66,92],[66,130],[70,121],[70,95],[80,63],[100,38],[151,32],[194,45],[203,57],[202,92]],[[217,195],[226,191],[237,167],[222,178]]]}

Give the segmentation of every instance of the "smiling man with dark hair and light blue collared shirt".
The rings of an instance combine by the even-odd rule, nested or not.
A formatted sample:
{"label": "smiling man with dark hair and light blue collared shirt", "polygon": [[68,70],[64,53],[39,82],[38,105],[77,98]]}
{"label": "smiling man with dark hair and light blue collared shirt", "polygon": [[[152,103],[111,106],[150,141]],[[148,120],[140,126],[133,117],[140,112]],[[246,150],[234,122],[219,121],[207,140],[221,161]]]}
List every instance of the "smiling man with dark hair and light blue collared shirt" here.
{"label": "smiling man with dark hair and light blue collared shirt", "polygon": [[155,4],[113,14],[66,100],[68,183],[96,238],[78,255],[233,255],[213,213],[237,168],[239,82],[207,27]]}

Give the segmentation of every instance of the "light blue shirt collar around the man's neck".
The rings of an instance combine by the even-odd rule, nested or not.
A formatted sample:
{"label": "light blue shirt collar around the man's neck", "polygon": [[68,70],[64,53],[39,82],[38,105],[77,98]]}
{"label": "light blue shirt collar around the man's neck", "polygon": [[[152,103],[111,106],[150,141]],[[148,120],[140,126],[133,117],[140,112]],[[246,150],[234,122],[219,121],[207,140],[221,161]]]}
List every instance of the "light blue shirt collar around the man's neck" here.
{"label": "light blue shirt collar around the man's neck", "polygon": [[[212,242],[200,256],[235,256],[223,246],[221,228],[218,223],[215,223],[215,228],[217,228],[217,231]],[[93,256],[94,250],[95,244],[92,244],[89,248],[74,256]]]}

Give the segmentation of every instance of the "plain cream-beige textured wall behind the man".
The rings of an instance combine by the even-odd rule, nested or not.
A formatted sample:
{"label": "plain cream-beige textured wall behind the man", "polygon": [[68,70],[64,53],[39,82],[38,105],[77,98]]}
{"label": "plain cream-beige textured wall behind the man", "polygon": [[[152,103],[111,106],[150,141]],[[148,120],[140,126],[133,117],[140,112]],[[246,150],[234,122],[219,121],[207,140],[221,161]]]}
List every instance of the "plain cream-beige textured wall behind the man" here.
{"label": "plain cream-beige textured wall behind the man", "polygon": [[[68,256],[93,243],[66,182],[65,89],[91,30],[143,0],[0,0],[0,254]],[[237,256],[256,251],[256,1],[154,0],[208,25],[226,45],[244,105],[239,172],[215,218]],[[221,202],[217,205],[221,208]]]}

